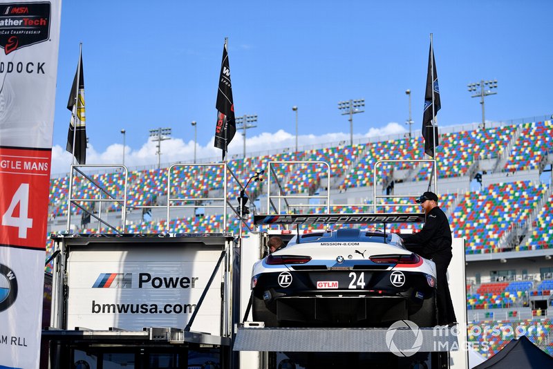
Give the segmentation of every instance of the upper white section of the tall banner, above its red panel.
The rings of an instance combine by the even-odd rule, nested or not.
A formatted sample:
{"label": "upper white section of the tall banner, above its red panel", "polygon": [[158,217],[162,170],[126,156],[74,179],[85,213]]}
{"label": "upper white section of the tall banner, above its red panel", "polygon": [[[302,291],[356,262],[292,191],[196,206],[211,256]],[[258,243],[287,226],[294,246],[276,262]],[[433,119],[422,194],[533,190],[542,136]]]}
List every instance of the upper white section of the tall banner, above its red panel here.
{"label": "upper white section of the tall banner, above its red panel", "polygon": [[52,148],[61,1],[0,1],[0,146]]}

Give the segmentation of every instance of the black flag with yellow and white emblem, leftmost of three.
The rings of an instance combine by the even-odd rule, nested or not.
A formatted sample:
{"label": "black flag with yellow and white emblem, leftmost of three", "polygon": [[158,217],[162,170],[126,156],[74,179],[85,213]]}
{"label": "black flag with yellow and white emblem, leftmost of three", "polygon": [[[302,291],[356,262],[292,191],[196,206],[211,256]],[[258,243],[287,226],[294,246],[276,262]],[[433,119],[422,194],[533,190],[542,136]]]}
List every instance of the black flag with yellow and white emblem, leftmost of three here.
{"label": "black flag with yellow and white emblem, leftmost of three", "polygon": [[[79,86],[77,92],[77,84]],[[78,98],[77,98],[78,96]],[[86,164],[86,118],[84,116],[84,73],[82,70],[82,53],[79,53],[79,64],[71,86],[67,102],[71,111],[71,122],[67,133],[66,150],[73,154],[79,164]],[[75,144],[75,147],[73,147]]]}

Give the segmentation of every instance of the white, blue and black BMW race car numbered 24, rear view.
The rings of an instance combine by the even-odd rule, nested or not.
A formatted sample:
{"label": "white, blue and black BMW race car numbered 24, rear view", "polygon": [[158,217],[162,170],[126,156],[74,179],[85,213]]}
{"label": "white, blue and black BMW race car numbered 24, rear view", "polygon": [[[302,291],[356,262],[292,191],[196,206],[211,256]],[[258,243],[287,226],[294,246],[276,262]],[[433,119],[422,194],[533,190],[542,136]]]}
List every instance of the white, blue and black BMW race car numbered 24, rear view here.
{"label": "white, blue and black BMW race car numbered 24, rear view", "polygon": [[254,264],[252,314],[265,327],[379,327],[437,321],[432,261],[398,234],[341,228],[293,236]]}

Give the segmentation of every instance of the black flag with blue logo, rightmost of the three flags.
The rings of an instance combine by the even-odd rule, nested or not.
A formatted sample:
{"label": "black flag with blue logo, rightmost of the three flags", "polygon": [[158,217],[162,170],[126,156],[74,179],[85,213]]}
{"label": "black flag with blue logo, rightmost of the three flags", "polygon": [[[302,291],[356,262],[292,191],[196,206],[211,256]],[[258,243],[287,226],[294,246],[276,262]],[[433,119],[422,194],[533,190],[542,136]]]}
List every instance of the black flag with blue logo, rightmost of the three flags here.
{"label": "black flag with blue logo, rightmost of the three flags", "polygon": [[[433,75],[432,75],[433,72]],[[432,102],[434,108],[432,108]],[[434,117],[442,107],[440,103],[440,88],[438,87],[438,72],[434,60],[434,50],[430,44],[428,57],[427,88],[424,93],[424,113],[422,115],[422,137],[424,137],[424,152],[434,157],[434,143],[438,146],[438,127],[434,125]]]}

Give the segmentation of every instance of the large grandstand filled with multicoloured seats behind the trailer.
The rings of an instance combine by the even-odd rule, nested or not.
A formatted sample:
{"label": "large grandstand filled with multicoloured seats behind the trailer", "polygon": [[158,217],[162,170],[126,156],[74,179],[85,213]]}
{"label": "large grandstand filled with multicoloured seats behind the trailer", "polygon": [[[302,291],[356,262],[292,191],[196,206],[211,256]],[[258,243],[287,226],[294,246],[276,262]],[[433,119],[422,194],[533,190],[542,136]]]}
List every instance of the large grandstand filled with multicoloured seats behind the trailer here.
{"label": "large grandstand filled with multicoloured seats behind the trailer", "polygon": [[[490,356],[503,348],[512,337],[497,337],[488,325],[521,325],[534,328],[528,338],[553,354],[553,194],[550,171],[553,162],[553,124],[550,120],[521,124],[497,124],[487,129],[455,128],[440,135],[437,148],[440,206],[450,217],[456,237],[466,239],[467,311],[469,337],[489,345],[480,353]],[[312,207],[295,207],[288,211],[355,213],[373,211],[373,169],[377,160],[422,160],[423,141],[412,138],[371,139],[350,145],[330,145],[305,151],[281,152],[250,158],[232,158],[228,166],[236,178],[246,181],[255,171],[268,170],[268,162],[287,160],[325,161],[328,173],[315,164],[275,166],[283,191],[291,195],[324,195],[330,191],[333,202],[310,201]],[[184,232],[221,231],[225,224],[238,231],[234,214],[223,218],[220,209],[205,207],[208,201],[191,198],[215,196],[223,190],[223,174],[210,166],[176,167],[171,171],[171,198],[182,199],[191,207],[167,211],[156,206],[167,205],[166,169],[144,169],[129,172],[129,206],[127,225],[120,223],[121,206],[117,203],[91,205],[119,231],[156,233],[167,230]],[[476,176],[477,173],[480,176]],[[386,164],[377,176],[377,193],[419,194],[427,188],[431,168],[426,164]],[[122,197],[124,176],[120,172],[95,173],[91,178],[106,191]],[[475,178],[481,178],[479,181]],[[64,231],[67,224],[69,178],[50,180],[50,231]],[[256,211],[268,211],[267,182],[252,182],[247,189],[257,199]],[[236,179],[229,178],[232,198],[238,195]],[[79,198],[100,198],[100,191],[90,182],[77,178],[74,191]],[[322,196],[321,196],[322,197]],[[412,203],[388,211],[414,211]],[[235,203],[237,205],[237,202]],[[136,208],[151,206],[151,209]],[[134,207],[134,208],[133,208]],[[145,210],[145,211],[144,211]],[[111,232],[100,224],[82,223],[82,210],[71,209],[72,231],[83,233]],[[378,209],[377,211],[384,211]],[[151,216],[149,216],[151,214]],[[168,223],[169,222],[169,223]],[[251,227],[251,222],[250,222]],[[48,243],[48,256],[52,243]],[[50,266],[47,265],[46,270]],[[478,327],[478,328],[477,328]],[[480,334],[470,333],[480,331]]]}

